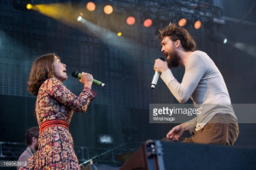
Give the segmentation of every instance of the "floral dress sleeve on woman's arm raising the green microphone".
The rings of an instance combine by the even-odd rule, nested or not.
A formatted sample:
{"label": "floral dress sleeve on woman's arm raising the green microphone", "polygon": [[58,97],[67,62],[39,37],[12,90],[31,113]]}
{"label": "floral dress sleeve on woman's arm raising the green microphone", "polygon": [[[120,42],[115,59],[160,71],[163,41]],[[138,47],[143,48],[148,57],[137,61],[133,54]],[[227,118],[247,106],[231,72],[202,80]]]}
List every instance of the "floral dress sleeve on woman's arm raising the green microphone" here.
{"label": "floral dress sleeve on woman's arm raising the green microphone", "polygon": [[55,78],[51,78],[47,82],[47,92],[52,98],[76,112],[86,111],[90,101],[96,97],[96,92],[86,87],[79,96],[76,96]]}

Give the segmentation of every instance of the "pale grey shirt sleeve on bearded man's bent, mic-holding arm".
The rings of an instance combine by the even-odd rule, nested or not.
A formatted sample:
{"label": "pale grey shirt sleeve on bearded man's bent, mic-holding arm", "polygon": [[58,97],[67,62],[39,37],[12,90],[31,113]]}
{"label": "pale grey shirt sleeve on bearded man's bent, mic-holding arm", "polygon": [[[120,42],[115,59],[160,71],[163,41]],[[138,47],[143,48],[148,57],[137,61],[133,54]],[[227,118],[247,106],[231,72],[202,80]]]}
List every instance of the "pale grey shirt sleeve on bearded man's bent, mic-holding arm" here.
{"label": "pale grey shirt sleeve on bearded man's bent, mic-holding arm", "polygon": [[169,69],[161,74],[162,80],[179,103],[188,101],[207,71],[206,61],[197,54],[191,55],[187,62],[188,64],[185,66],[185,73],[181,83],[177,82],[177,79]]}

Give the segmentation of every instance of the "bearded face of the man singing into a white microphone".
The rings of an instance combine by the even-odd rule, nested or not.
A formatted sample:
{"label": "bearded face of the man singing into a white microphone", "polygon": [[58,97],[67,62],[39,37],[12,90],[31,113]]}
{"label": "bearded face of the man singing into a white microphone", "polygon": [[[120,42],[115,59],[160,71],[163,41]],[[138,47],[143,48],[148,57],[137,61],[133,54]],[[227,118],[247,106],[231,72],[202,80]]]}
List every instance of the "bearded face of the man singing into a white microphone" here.
{"label": "bearded face of the man singing into a white microphone", "polygon": [[161,52],[166,55],[168,67],[177,67],[180,63],[181,58],[174,48],[175,42],[172,42],[170,37],[164,37],[164,39],[161,42],[161,45]]}

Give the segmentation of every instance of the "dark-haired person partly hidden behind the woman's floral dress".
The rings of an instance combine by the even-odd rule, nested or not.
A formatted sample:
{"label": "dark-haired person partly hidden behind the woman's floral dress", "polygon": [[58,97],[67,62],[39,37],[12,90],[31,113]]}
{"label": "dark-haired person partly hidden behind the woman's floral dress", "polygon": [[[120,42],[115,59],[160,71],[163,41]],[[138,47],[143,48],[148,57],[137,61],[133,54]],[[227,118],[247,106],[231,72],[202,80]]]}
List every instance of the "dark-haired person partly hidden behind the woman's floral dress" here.
{"label": "dark-haired person partly hidden behind the woman's floral dress", "polygon": [[[18,161],[27,161],[38,150],[39,128],[31,127],[26,131],[26,150],[22,152]],[[17,167],[19,169],[20,167]]]}

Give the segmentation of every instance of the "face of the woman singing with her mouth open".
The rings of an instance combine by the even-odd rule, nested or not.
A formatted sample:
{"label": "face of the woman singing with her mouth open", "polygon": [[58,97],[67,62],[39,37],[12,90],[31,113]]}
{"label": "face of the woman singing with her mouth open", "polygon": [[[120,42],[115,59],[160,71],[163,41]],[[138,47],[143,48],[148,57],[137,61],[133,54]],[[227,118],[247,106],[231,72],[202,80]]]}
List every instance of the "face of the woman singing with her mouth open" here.
{"label": "face of the woman singing with her mouth open", "polygon": [[60,80],[61,82],[67,80],[67,72],[65,64],[61,63],[61,60],[55,56],[54,62],[54,70],[55,70],[55,78]]}

